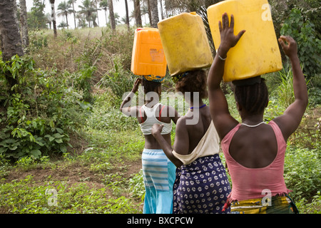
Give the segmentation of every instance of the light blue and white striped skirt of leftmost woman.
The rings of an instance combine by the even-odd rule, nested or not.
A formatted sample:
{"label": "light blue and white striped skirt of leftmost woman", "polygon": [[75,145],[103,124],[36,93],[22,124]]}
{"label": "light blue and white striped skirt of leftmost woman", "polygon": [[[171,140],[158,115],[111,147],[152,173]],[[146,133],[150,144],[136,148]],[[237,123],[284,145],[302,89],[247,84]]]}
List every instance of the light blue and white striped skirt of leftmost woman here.
{"label": "light blue and white striped skirt of leftmost woman", "polygon": [[175,165],[163,150],[144,149],[142,167],[146,190],[143,214],[171,214]]}

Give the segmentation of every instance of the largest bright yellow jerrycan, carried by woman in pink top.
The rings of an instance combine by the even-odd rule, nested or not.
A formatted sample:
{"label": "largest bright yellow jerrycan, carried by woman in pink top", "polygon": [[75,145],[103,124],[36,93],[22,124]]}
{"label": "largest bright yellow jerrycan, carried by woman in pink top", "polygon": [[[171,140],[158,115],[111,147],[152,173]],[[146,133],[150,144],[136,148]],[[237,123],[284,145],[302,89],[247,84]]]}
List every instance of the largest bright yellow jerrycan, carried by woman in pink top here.
{"label": "largest bright yellow jerrycan, carried by woman in pink top", "polygon": [[208,7],[208,22],[215,48],[220,46],[218,21],[224,13],[234,15],[234,34],[245,29],[230,49],[223,81],[234,81],[280,71],[282,59],[267,0],[227,0]]}

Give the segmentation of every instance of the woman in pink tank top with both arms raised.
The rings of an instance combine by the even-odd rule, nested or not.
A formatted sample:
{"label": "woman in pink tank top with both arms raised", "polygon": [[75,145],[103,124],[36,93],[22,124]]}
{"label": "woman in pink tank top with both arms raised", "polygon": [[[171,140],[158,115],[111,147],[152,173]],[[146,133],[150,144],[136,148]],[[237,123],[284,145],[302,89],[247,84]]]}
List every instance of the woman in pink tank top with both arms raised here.
{"label": "woman in pink tank top with both arms raised", "polygon": [[[290,58],[295,101],[283,115],[270,123],[263,122],[268,103],[265,81],[260,76],[233,81],[235,101],[242,123],[228,111],[220,88],[228,51],[245,31],[234,35],[234,17],[223,14],[219,21],[221,43],[210,68],[208,94],[210,113],[232,180],[228,204],[231,213],[298,213],[288,196],[290,190],[283,178],[287,138],[297,129],[307,107],[307,87],[297,57],[297,44],[290,36],[281,36],[280,45]],[[243,37],[244,38],[244,37]]]}

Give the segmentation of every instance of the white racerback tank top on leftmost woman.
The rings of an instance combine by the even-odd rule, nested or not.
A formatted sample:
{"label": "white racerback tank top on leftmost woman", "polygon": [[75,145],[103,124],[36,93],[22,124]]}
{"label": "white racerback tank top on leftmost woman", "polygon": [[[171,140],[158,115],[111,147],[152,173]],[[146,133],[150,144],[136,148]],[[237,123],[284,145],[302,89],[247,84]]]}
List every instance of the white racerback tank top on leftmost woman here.
{"label": "white racerback tank top on leftmost woman", "polygon": [[151,128],[153,127],[154,123],[164,125],[161,135],[166,135],[171,132],[172,130],[171,121],[170,123],[163,123],[156,118],[156,110],[159,105],[161,105],[161,103],[154,105],[153,108],[147,108],[146,105],[141,106],[141,108],[145,111],[145,114],[147,116],[145,122],[139,124],[141,126],[141,131],[144,135],[151,135]]}

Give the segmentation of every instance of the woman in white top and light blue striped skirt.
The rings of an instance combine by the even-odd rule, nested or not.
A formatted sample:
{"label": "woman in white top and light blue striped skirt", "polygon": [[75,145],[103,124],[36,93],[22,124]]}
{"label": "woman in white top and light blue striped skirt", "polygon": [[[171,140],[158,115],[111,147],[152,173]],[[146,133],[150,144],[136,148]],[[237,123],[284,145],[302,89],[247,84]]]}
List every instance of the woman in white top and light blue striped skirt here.
{"label": "woman in white top and light blue striped skirt", "polygon": [[[120,110],[125,115],[137,118],[145,138],[142,154],[143,179],[146,190],[143,214],[171,214],[175,165],[168,160],[161,145],[151,135],[151,128],[154,123],[165,125],[161,134],[165,138],[165,142],[170,144],[172,121],[176,123],[180,115],[173,107],[159,103],[162,91],[161,82],[150,81],[146,78],[148,77],[143,76],[135,81],[131,93],[121,103]],[[133,95],[138,91],[140,84],[146,95],[145,104],[131,106]]]}

